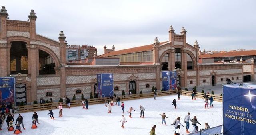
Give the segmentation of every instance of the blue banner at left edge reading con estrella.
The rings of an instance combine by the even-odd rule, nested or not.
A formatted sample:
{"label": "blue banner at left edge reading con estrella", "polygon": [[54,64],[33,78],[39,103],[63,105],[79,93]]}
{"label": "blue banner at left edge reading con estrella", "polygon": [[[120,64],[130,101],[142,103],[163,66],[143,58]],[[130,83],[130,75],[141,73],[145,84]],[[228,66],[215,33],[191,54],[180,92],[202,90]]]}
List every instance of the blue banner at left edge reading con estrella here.
{"label": "blue banner at left edge reading con estrella", "polygon": [[2,102],[15,102],[15,78],[0,78],[0,104]]}

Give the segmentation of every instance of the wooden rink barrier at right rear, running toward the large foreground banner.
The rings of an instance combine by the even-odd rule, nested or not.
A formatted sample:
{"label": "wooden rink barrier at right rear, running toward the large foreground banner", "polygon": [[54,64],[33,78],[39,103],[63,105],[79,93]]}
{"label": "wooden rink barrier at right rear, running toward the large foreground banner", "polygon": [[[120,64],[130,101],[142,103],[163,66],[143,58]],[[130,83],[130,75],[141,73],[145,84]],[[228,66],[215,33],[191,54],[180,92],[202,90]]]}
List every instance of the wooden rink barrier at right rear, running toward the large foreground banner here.
{"label": "wooden rink barrier at right rear, running toward the large foreground banner", "polygon": [[[191,97],[192,91],[187,91],[187,90],[179,90],[179,91],[180,91],[180,94]],[[222,100],[223,100],[222,96],[212,95],[212,94],[206,94],[206,95],[208,95],[209,98],[210,98],[210,96],[212,96],[214,101],[222,102]],[[196,98],[202,98],[203,99],[204,98],[204,93],[197,92]],[[210,102],[210,100],[208,100],[208,101]]]}

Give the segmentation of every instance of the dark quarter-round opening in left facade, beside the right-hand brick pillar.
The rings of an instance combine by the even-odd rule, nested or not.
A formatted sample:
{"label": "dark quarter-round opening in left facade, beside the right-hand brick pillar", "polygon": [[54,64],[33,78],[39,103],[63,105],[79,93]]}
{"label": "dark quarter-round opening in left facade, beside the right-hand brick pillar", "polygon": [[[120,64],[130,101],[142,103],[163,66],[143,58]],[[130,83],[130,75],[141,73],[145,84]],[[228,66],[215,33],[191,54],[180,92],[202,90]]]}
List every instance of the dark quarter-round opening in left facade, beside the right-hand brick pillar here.
{"label": "dark quarter-round opening in left facade, beside the right-hand brick pillar", "polygon": [[[39,74],[55,74],[55,62],[52,56],[39,49]],[[41,65],[41,70],[40,70],[40,65]]]}

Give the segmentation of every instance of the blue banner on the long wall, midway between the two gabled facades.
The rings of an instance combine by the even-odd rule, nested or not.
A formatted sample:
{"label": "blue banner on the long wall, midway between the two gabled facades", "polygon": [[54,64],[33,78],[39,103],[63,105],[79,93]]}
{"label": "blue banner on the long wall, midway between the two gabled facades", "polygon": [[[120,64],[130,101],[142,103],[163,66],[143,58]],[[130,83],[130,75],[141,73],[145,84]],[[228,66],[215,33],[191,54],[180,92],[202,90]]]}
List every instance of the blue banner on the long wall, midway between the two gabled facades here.
{"label": "blue banner on the long wall, midway between the two gabled facades", "polygon": [[113,74],[97,74],[98,97],[110,97],[114,95]]}

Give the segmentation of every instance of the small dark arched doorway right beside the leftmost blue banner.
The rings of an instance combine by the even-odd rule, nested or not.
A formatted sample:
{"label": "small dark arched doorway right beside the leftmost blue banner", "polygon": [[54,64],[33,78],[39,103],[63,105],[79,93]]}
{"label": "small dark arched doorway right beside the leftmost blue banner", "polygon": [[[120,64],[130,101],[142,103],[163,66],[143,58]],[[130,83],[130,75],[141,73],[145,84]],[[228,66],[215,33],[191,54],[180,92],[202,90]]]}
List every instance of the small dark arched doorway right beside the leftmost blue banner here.
{"label": "small dark arched doorway right beside the leftmost blue banner", "polygon": [[20,105],[21,102],[27,104],[27,89],[26,84],[16,84],[16,105]]}

